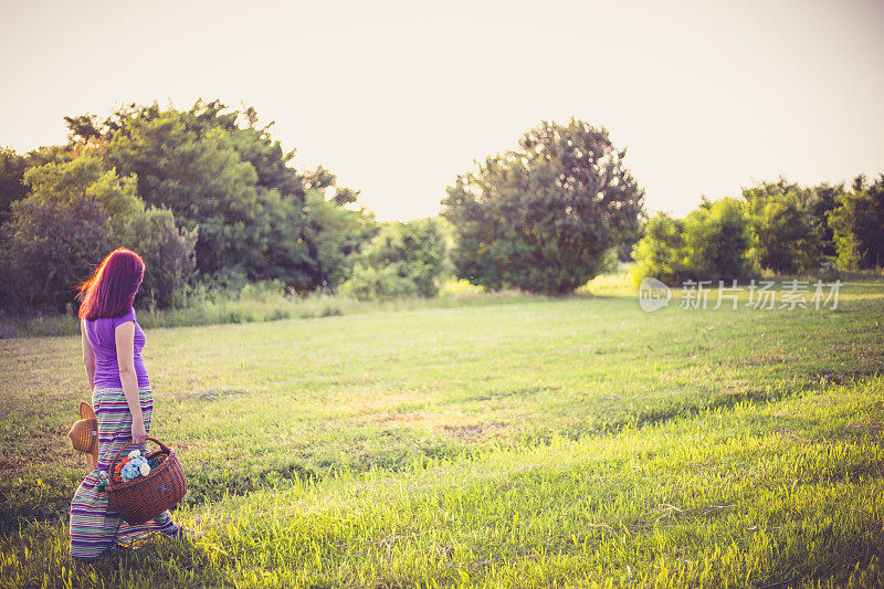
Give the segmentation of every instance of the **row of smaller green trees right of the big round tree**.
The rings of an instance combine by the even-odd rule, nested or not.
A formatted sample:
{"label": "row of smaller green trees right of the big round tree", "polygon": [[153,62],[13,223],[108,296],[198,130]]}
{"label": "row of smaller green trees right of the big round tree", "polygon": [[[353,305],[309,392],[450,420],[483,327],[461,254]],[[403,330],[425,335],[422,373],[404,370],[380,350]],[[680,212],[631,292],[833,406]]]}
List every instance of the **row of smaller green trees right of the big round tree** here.
{"label": "row of smaller green trees right of the big round tree", "polygon": [[780,178],[744,188],[739,199],[704,198],[684,219],[649,219],[633,256],[636,280],[670,285],[743,281],[762,271],[874,270],[884,265],[884,175],[859,176],[850,187]]}

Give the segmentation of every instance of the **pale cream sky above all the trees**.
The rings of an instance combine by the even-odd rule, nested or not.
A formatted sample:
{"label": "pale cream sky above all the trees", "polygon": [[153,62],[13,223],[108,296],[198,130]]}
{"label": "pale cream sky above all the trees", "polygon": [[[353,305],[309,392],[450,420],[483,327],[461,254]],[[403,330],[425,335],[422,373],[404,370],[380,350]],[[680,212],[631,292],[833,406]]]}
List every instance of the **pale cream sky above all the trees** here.
{"label": "pale cream sky above all the trees", "polygon": [[254,106],[381,220],[541,119],[609,129],[651,211],[884,172],[884,0],[9,1],[0,145],[120,103]]}

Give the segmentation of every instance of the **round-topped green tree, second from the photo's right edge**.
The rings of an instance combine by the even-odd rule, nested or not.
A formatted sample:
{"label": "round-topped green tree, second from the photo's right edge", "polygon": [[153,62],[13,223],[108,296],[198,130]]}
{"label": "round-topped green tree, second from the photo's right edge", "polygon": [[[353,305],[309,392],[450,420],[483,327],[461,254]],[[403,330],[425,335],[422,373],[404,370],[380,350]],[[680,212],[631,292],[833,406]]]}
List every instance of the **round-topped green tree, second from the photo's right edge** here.
{"label": "round-topped green tree, second from the photo's right edge", "polygon": [[781,273],[820,267],[823,234],[813,208],[821,203],[810,202],[808,192],[785,178],[743,189],[755,236],[751,255],[760,267]]}

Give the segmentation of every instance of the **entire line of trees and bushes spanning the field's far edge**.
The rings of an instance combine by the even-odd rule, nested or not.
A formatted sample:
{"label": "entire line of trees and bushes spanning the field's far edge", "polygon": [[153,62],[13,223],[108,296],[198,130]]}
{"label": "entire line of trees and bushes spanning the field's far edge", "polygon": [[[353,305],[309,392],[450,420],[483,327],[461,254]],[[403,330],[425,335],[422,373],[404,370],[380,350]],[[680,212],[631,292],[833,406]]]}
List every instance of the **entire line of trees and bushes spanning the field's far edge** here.
{"label": "entire line of trees and bushes spanning the field's far edge", "polygon": [[145,259],[138,304],[158,307],[257,281],[371,299],[433,296],[454,275],[562,294],[631,256],[671,283],[884,263],[884,177],[780,179],[648,219],[607,129],[541,122],[457,176],[439,218],[380,223],[329,170],[296,169],[257,122],[219,101],[130,104],[65,117],[65,145],[0,149],[0,311],[74,307],[77,282],[118,246]]}

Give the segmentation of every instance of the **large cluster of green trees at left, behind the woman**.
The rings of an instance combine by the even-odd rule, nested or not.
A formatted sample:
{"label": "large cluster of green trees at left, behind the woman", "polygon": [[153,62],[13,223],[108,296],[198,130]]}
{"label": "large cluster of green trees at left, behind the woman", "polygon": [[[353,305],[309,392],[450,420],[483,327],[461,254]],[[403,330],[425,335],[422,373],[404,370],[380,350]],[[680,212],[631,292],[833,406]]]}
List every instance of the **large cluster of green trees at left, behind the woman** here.
{"label": "large cluster of green trees at left, behind the woman", "polygon": [[[140,296],[177,305],[194,277],[333,287],[380,230],[358,192],[318,167],[290,165],[253,108],[198,101],[187,111],[128,105],[66,117],[69,143],[4,150],[0,288],[31,308],[62,308],[115,246],[146,261]],[[39,269],[39,270],[38,270]]]}

